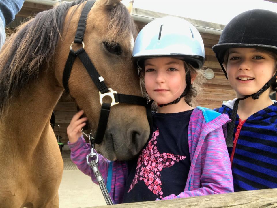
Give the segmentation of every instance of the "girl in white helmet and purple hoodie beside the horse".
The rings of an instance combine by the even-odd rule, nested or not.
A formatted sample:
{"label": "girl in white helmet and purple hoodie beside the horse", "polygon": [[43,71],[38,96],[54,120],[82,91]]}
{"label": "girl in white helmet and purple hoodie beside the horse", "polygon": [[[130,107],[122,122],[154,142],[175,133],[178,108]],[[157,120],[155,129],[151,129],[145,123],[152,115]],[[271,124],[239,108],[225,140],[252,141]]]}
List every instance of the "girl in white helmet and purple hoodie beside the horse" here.
{"label": "girl in white helmet and purple hoodie beside the horse", "polygon": [[[196,28],[173,17],[152,21],[136,38],[133,60],[158,107],[150,138],[137,158],[112,162],[99,155],[99,169],[114,202],[233,192],[222,130],[230,119],[207,108],[192,107],[197,95],[194,82],[205,61],[203,40]],[[71,158],[96,182],[85,159],[90,146],[74,133],[82,122],[81,114],[68,127]]]}

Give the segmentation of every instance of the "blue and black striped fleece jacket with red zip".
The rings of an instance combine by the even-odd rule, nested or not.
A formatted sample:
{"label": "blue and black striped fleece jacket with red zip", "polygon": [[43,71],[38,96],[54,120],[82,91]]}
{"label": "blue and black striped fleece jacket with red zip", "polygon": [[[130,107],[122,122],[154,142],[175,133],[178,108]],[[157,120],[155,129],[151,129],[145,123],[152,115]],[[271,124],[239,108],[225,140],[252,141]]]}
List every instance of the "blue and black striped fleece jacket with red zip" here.
{"label": "blue and black striped fleece jacket with red zip", "polygon": [[[235,100],[215,111],[230,118]],[[245,121],[237,115],[233,140],[234,146],[228,147],[228,152],[234,191],[277,188],[277,102]]]}

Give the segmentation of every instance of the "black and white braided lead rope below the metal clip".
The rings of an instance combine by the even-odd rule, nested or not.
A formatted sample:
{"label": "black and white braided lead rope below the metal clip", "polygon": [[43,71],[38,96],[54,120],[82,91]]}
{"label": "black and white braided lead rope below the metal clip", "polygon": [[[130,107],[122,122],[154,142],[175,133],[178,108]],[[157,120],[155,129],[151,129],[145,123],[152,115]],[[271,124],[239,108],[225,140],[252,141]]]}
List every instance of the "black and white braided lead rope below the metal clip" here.
{"label": "black and white braided lead rope below the metal clip", "polygon": [[108,190],[107,190],[106,185],[104,183],[103,177],[102,177],[101,173],[98,170],[96,160],[91,160],[91,162],[89,163],[89,166],[91,166],[91,168],[93,170],[93,173],[94,173],[94,175],[95,175],[95,177],[98,181],[98,184],[100,186],[100,190],[101,190],[101,192],[104,196],[104,199],[105,199],[107,205],[113,205],[113,201],[111,199],[110,194],[108,193]]}

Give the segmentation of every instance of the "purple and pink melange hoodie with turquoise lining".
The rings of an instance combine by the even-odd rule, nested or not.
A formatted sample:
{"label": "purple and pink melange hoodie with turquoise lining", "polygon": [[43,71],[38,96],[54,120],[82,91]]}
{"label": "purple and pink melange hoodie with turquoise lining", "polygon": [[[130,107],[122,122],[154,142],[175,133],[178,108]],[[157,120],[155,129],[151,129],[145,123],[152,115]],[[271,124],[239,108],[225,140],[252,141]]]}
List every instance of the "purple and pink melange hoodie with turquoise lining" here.
{"label": "purple and pink melange hoodie with turquoise lining", "polygon": [[[186,187],[179,195],[171,194],[164,199],[233,192],[231,164],[222,128],[228,121],[230,119],[226,114],[207,108],[197,107],[192,111],[188,126],[191,166]],[[68,145],[71,149],[71,160],[97,183],[86,162],[86,156],[91,151],[89,144],[80,137],[76,143]],[[109,161],[102,155],[98,157],[98,168],[112,200],[116,204],[122,203],[128,177],[126,162]]]}

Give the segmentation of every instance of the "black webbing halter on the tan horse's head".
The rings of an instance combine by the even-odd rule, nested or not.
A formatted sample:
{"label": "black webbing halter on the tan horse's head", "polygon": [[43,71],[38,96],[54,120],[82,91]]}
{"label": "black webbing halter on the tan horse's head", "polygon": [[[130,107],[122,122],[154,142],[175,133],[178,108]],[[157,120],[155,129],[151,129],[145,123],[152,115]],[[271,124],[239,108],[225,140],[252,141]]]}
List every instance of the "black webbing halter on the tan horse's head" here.
{"label": "black webbing halter on the tan horse's head", "polygon": [[[108,117],[111,110],[111,106],[116,105],[118,103],[128,103],[128,104],[136,104],[141,106],[149,106],[147,104],[147,99],[139,96],[134,95],[124,95],[119,94],[116,91],[114,91],[111,88],[108,88],[106,84],[104,83],[104,78],[100,76],[94,67],[91,59],[87,55],[85,49],[84,49],[84,42],[83,37],[86,29],[86,20],[87,20],[87,14],[91,10],[91,7],[93,6],[94,1],[87,1],[86,5],[83,8],[83,11],[81,13],[78,28],[76,31],[74,42],[70,45],[70,51],[68,55],[68,59],[65,64],[64,72],[63,72],[63,87],[65,91],[69,93],[68,88],[68,80],[70,77],[70,72],[72,69],[72,65],[74,63],[75,58],[78,56],[81,62],[83,63],[84,67],[87,70],[87,73],[91,77],[92,81],[96,85],[96,87],[99,90],[99,96],[100,96],[100,103],[102,104],[101,112],[100,112],[100,118],[98,122],[98,128],[96,132],[96,136],[93,141],[90,141],[91,143],[100,144],[103,141],[103,137],[106,131],[107,123],[108,123]],[[72,45],[74,43],[82,44],[83,47],[80,48],[77,51],[72,50]],[[104,96],[109,96],[112,99],[111,103],[103,103],[102,99]],[[151,126],[151,108],[147,107],[147,119]]]}

